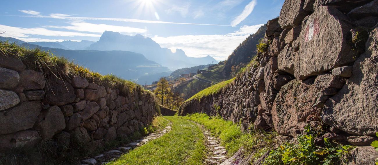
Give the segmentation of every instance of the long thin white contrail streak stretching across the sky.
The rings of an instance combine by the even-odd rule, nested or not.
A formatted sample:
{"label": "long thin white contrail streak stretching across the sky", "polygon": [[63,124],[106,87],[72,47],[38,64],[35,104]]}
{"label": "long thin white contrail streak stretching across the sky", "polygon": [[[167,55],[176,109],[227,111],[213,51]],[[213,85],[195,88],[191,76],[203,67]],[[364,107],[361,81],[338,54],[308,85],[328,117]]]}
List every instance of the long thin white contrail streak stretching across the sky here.
{"label": "long thin white contrail streak stretching across the sky", "polygon": [[[64,16],[65,15],[65,16]],[[57,18],[57,19],[67,19],[67,20],[100,20],[100,21],[121,21],[121,22],[135,22],[135,23],[162,23],[162,24],[190,24],[190,25],[207,25],[207,26],[230,26],[223,24],[202,24],[202,23],[180,23],[180,22],[167,22],[167,21],[152,21],[152,20],[139,20],[130,18],[102,18],[102,17],[73,17],[67,14],[50,14],[50,15],[15,15],[19,17],[35,17],[35,18]]]}

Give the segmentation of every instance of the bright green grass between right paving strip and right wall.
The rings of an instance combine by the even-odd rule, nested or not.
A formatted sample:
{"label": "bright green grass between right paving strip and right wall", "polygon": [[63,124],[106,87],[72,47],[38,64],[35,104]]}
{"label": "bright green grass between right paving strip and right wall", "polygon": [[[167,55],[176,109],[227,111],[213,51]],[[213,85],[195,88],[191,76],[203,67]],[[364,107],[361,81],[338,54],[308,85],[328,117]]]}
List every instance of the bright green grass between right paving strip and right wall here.
{"label": "bright green grass between right paving strip and right wall", "polygon": [[226,148],[229,156],[233,155],[240,147],[244,147],[245,154],[253,154],[253,161],[273,148],[274,138],[277,136],[276,132],[243,133],[239,124],[225,121],[220,116],[209,117],[204,113],[195,113],[182,118],[204,125],[213,135],[219,137],[221,145]]}

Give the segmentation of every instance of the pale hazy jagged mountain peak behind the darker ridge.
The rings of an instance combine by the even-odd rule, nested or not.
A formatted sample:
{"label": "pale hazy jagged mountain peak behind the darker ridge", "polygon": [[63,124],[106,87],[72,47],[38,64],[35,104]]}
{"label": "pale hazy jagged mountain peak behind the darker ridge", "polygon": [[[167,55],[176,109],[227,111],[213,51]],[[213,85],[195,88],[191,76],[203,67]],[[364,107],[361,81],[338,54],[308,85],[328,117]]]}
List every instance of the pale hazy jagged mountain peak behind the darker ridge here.
{"label": "pale hazy jagged mountain peak behind the darker ridge", "polygon": [[217,62],[211,56],[194,58],[187,57],[181,49],[172,52],[170,49],[162,48],[158,43],[149,37],[136,34],[135,36],[122,35],[118,32],[105,31],[100,40],[88,47],[90,50],[126,50],[143,54],[147,59],[156,61],[172,70],[192,67]]}

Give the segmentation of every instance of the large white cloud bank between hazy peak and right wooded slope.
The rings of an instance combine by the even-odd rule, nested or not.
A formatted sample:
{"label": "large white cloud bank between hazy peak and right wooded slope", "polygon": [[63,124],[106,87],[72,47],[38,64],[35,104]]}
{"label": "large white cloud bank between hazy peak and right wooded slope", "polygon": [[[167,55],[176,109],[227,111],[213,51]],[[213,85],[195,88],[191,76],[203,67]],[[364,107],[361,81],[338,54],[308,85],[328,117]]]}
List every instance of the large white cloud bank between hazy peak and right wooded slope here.
{"label": "large white cloud bank between hazy peak and right wooded slope", "polygon": [[216,60],[225,60],[245,38],[255,33],[263,24],[243,26],[238,31],[225,35],[178,35],[155,36],[152,39],[161,47],[182,49],[190,57],[211,55]]}

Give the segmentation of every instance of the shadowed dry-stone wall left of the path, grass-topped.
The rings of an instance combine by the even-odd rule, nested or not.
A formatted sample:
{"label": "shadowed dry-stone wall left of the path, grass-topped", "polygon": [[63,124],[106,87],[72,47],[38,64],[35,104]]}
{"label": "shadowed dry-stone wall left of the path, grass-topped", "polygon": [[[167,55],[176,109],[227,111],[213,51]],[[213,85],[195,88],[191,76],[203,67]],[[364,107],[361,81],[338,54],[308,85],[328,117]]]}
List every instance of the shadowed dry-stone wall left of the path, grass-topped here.
{"label": "shadowed dry-stone wall left of the path, grass-topped", "polygon": [[122,93],[79,76],[46,77],[0,55],[0,151],[43,139],[58,146],[79,139],[94,151],[149,124],[158,113],[154,97],[139,86]]}

